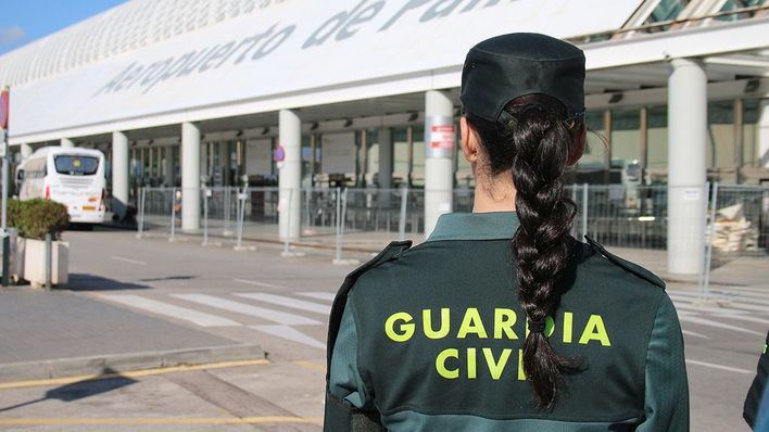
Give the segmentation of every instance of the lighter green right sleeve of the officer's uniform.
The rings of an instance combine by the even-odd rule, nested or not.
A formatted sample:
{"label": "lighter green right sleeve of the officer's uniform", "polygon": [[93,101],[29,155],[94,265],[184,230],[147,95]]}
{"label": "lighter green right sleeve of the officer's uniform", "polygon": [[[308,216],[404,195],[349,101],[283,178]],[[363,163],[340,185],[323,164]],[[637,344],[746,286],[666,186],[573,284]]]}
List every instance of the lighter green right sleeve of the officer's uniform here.
{"label": "lighter green right sleeve of the officer's uniform", "polygon": [[646,418],[636,432],[689,431],[689,383],[683,335],[667,294],[657,308],[646,353]]}

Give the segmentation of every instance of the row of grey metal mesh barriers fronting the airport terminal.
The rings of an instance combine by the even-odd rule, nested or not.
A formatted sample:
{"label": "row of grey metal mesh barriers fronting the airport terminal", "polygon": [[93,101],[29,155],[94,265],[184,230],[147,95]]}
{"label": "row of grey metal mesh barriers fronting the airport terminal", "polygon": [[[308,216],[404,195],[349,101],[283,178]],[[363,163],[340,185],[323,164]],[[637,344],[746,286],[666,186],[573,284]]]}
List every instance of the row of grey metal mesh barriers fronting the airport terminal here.
{"label": "row of grey metal mesh barriers fronting the airport terminal", "polygon": [[[175,239],[181,227],[181,195],[201,196],[201,228],[192,232],[218,243],[243,240],[281,242],[278,232],[278,188],[143,188],[139,200],[139,234]],[[301,189],[299,239],[287,243],[344,254],[370,253],[394,239],[424,238],[425,193],[421,189]],[[622,187],[573,185],[566,189],[578,206],[572,233],[588,234],[615,247],[663,250],[668,243],[666,186]],[[708,185],[702,208],[684,215],[703,224],[715,256],[765,256],[769,249],[769,188]],[[685,196],[684,196],[685,199]],[[701,200],[702,201],[702,200]],[[288,203],[295,200],[288,200]],[[455,212],[472,209],[474,191],[456,189]],[[289,204],[290,205],[290,204]],[[189,233],[189,232],[186,232]]]}

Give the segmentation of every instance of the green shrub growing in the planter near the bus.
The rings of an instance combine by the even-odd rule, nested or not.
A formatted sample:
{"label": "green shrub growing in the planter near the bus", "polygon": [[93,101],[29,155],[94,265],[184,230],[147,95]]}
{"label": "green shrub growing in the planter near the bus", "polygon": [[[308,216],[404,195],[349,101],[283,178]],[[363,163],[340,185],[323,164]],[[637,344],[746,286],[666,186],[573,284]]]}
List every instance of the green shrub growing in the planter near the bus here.
{"label": "green shrub growing in the planter near the bus", "polygon": [[8,202],[8,225],[18,229],[20,237],[45,240],[50,232],[54,240],[59,240],[68,224],[66,206],[55,201],[34,199]]}

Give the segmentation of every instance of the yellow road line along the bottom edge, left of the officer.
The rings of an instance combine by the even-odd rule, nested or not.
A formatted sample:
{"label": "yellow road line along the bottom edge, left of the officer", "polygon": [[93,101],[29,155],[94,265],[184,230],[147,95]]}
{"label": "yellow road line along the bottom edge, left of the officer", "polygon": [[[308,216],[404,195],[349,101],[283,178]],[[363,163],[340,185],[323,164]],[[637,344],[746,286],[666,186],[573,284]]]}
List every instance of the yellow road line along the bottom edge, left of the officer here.
{"label": "yellow road line along the bottom edge, left of the officer", "polygon": [[323,424],[322,417],[177,417],[177,418],[0,418],[0,425],[225,425],[225,424],[270,424],[300,423]]}

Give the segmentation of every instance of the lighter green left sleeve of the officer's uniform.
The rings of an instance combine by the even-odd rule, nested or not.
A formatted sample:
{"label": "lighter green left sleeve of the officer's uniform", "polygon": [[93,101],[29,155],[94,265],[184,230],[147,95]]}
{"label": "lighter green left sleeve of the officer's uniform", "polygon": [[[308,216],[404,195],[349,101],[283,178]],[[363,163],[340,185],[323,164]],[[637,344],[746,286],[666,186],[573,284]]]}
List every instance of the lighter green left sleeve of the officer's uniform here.
{"label": "lighter green left sleeve of the officer's uniform", "polygon": [[357,331],[353,307],[351,298],[348,298],[331,355],[329,391],[360,409],[371,409],[373,403],[357,369]]}

